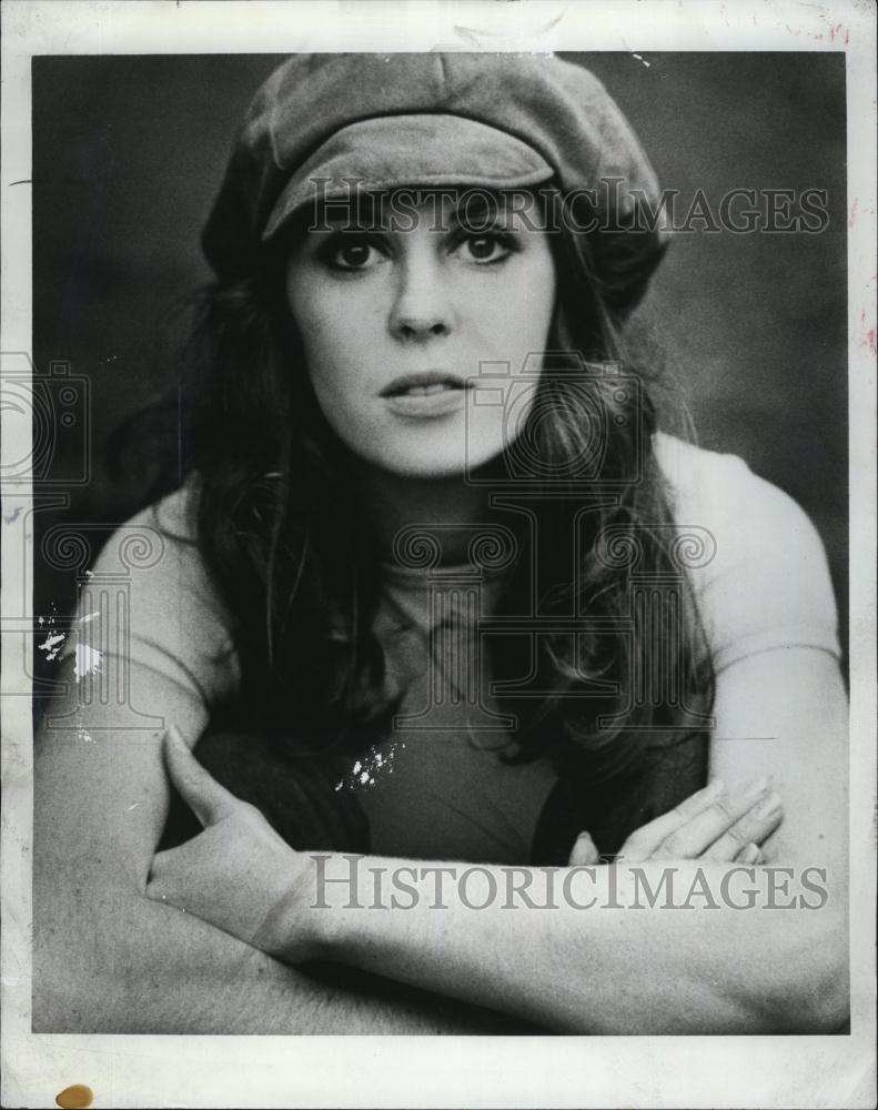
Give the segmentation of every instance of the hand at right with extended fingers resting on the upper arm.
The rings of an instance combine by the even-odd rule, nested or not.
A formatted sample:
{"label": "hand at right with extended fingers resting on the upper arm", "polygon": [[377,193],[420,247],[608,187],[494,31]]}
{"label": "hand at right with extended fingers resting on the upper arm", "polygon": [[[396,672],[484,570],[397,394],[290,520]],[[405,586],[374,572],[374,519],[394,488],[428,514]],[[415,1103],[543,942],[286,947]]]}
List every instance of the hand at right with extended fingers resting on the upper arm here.
{"label": "hand at right with extended fingers resting on the upper arm", "polygon": [[[618,852],[628,864],[645,859],[713,859],[758,864],[760,845],[784,819],[780,798],[767,779],[730,798],[719,780],[686,798],[667,814],[636,829]],[[587,833],[579,834],[568,866],[601,861]]]}

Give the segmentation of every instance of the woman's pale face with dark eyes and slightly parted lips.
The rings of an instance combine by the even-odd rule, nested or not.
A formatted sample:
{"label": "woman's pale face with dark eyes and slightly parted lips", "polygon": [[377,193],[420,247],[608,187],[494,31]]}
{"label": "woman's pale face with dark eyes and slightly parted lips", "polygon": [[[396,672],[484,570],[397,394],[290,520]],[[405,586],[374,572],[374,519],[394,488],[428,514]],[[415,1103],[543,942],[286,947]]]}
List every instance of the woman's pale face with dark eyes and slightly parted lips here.
{"label": "woman's pale face with dark eyes and slightly parted lips", "polygon": [[[521,375],[546,349],[556,279],[536,205],[458,220],[450,199],[417,199],[397,228],[327,218],[293,248],[286,296],[340,440],[396,475],[441,477],[494,458],[522,427],[536,382]],[[528,360],[532,380],[539,365]],[[504,367],[509,380],[488,389],[485,371]]]}

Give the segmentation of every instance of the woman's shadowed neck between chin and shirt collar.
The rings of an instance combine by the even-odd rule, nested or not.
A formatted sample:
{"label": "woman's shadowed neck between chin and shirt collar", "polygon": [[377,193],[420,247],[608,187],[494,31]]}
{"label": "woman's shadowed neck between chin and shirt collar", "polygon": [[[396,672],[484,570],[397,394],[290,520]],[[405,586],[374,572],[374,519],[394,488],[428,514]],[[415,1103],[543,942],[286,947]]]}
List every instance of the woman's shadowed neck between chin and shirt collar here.
{"label": "woman's shadowed neck between chin and shirt collar", "polygon": [[[487,490],[467,484],[463,475],[446,478],[412,478],[360,465],[353,471],[357,496],[377,543],[381,559],[394,562],[393,541],[403,528],[443,525],[441,562],[466,559],[472,538],[468,526],[492,518]],[[456,526],[456,527],[455,527]]]}

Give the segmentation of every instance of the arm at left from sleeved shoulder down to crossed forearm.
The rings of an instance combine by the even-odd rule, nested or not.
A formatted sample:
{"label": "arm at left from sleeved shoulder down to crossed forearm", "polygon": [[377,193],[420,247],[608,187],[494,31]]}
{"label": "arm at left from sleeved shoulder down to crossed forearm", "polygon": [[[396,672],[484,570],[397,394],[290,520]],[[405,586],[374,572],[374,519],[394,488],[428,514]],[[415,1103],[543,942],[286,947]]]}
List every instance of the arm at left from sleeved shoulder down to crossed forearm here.
{"label": "arm at left from sleeved shoulder down to crossed forearm", "polygon": [[[375,990],[387,985],[367,976],[356,987],[339,986],[320,969],[286,967],[145,896],[170,800],[163,727],[120,728],[120,713],[131,724],[139,723],[131,707],[176,722],[194,745],[209,705],[236,682],[222,607],[198,547],[185,542],[191,507],[181,490],[111,537],[83,592],[78,637],[80,648],[100,650],[102,674],[75,680],[77,638],[69,639],[58,674],[67,695],[48,707],[36,737],[33,1028],[516,1031],[498,1015],[448,999]],[[127,548],[132,541],[139,546]]]}

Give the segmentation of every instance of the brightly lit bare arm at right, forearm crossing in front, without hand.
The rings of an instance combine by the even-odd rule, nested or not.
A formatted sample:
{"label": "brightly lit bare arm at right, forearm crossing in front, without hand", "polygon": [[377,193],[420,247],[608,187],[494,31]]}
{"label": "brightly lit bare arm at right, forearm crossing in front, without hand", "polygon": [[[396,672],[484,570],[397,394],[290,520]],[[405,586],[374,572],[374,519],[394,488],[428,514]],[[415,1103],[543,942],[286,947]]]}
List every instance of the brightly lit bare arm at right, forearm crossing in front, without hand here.
{"label": "brightly lit bare arm at right, forearm crossing in front, without hand", "polygon": [[[330,947],[364,967],[386,968],[393,951],[402,978],[568,1030],[836,1030],[848,1005],[847,712],[837,664],[804,648],[741,660],[718,678],[716,715],[726,739],[715,746],[714,771],[733,791],[768,775],[784,799],[768,858],[794,875],[776,871],[773,894],[756,884],[757,908],[741,911],[718,898],[718,909],[516,911],[495,902],[473,911],[455,900],[447,912],[390,912],[383,921],[341,910],[329,919]],[[655,889],[664,864],[642,866]],[[687,862],[679,865],[684,896],[696,866],[719,891],[728,865]],[[826,905],[766,908],[801,891],[805,868],[824,869]],[[584,885],[596,907],[612,901],[612,870],[597,869]],[[615,870],[618,900],[630,905],[632,874]],[[427,890],[420,894],[430,905]],[[476,885],[471,900],[484,897]]]}

